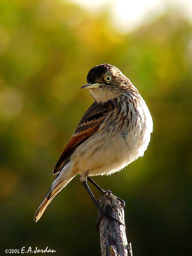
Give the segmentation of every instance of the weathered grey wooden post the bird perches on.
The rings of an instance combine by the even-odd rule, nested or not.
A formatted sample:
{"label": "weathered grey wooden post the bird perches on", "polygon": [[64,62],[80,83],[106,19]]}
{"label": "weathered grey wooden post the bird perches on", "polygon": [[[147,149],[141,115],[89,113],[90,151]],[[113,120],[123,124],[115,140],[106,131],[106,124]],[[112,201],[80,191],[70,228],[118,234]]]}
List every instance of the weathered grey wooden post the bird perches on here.
{"label": "weathered grey wooden post the bird perches on", "polygon": [[100,218],[101,256],[132,256],[131,243],[128,244],[126,237],[123,200],[108,190],[97,202],[107,215]]}

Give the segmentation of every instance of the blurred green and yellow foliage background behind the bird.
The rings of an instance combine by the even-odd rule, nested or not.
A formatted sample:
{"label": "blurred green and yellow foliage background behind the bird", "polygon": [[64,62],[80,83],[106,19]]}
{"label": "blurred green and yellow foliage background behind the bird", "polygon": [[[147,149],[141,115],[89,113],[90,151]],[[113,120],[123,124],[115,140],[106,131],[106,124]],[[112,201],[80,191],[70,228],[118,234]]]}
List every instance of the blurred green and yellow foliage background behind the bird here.
{"label": "blurred green and yellow foliage background behind the bird", "polygon": [[191,24],[170,9],[121,35],[107,11],[93,15],[59,0],[0,5],[0,255],[23,246],[100,255],[97,211],[79,177],[33,221],[52,168],[93,101],[80,86],[100,63],[116,65],[140,90],[154,132],[144,158],[94,180],[125,200],[134,255],[190,255]]}

